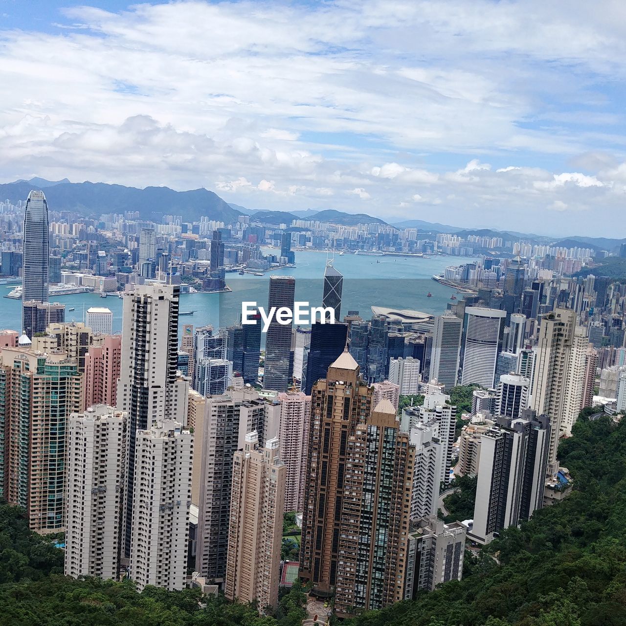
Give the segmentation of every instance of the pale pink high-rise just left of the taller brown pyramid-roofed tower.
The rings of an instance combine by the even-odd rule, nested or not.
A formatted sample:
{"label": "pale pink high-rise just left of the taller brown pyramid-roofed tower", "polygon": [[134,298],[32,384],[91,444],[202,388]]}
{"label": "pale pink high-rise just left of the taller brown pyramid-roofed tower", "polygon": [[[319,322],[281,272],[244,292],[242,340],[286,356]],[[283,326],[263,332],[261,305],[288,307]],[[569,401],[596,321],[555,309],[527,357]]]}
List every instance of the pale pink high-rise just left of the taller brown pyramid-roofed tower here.
{"label": "pale pink high-rise just left of the taller brown pyramid-roofed tower", "polygon": [[299,391],[278,394],[280,458],[285,464],[285,511],[302,511],[307,476],[311,397]]}

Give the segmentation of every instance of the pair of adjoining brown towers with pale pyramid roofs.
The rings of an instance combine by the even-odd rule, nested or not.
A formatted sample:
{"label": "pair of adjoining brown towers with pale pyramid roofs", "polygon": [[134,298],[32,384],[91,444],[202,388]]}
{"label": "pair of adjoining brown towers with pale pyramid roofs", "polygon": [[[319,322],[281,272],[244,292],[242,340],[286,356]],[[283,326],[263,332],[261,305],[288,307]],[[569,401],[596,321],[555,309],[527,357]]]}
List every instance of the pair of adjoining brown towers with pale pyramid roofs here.
{"label": "pair of adjoining brown towers with pale pyramid roofs", "polygon": [[403,598],[414,448],[344,352],[312,389],[300,577],[347,617]]}

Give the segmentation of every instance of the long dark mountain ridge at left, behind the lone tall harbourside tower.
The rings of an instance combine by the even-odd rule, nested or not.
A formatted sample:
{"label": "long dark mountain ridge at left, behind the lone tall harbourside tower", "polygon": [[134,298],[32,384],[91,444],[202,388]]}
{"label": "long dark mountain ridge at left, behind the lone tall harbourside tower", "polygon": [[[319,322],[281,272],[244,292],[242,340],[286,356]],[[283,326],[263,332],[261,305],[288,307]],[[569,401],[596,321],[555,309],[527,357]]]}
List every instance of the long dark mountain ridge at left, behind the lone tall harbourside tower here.
{"label": "long dark mountain ridge at left, behind the lone tall harbourside tower", "polygon": [[166,214],[182,215],[193,222],[206,215],[209,219],[234,223],[241,212],[208,189],[177,192],[169,187],[124,187],[106,183],[63,183],[38,187],[31,182],[0,185],[0,198],[10,202],[26,200],[31,189],[43,189],[51,211],[80,211],[88,215],[138,211],[145,220],[160,221]]}

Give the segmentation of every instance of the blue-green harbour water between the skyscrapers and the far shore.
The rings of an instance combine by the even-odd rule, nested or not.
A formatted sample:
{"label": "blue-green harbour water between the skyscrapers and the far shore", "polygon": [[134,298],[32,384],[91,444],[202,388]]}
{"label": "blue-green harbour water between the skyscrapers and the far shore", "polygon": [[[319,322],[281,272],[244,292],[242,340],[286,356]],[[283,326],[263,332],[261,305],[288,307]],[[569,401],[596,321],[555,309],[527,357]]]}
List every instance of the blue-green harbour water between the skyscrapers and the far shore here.
{"label": "blue-green harbour water between the skyscrapers and the far shore", "polygon": [[[180,310],[193,311],[192,315],[181,316],[179,332],[183,324],[216,328],[237,321],[242,301],[257,302],[267,307],[270,275],[289,274],[295,281],[295,299],[321,305],[324,268],[327,255],[324,252],[296,252],[296,267],[274,270],[264,276],[252,274],[226,275],[231,292],[223,294],[182,294]],[[448,265],[458,265],[472,259],[465,257],[378,257],[369,255],[335,255],[334,265],[344,275],[341,317],[348,310],[358,310],[361,317],[371,317],[371,307],[413,309],[429,314],[440,314],[446,309],[454,289],[431,279]],[[8,293],[10,287],[0,286]],[[431,297],[428,297],[428,293]],[[4,295],[4,294],[2,294]],[[461,297],[460,295],[458,296]],[[116,295],[101,298],[99,294],[74,294],[54,298],[54,302],[66,305],[65,319],[68,322],[83,321],[84,312],[90,307],[108,307],[113,312],[113,332],[121,331],[122,300]],[[74,310],[70,310],[74,309]],[[0,298],[0,328],[20,331],[21,300]]]}

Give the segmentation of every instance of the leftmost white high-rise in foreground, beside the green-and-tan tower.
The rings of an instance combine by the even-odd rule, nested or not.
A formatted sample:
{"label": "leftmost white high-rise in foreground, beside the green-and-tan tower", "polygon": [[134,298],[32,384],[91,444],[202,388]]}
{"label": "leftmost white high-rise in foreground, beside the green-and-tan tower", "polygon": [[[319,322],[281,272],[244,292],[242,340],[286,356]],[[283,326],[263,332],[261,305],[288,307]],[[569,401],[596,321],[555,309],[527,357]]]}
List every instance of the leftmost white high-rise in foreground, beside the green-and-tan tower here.
{"label": "leftmost white high-rise in foreground, beside the green-and-tan tower", "polygon": [[126,418],[126,413],[105,404],[69,416],[66,576],[117,580]]}

